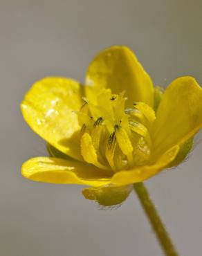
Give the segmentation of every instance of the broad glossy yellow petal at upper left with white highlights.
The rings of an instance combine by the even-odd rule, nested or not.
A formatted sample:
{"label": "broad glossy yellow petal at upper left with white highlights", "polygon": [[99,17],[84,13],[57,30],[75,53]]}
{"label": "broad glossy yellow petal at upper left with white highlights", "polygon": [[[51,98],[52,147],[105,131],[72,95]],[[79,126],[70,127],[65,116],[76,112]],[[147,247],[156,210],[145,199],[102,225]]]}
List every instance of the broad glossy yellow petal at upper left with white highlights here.
{"label": "broad glossy yellow petal at upper left with white highlights", "polygon": [[28,125],[64,154],[82,160],[80,126],[73,111],[82,105],[82,87],[75,80],[47,77],[36,82],[21,103]]}

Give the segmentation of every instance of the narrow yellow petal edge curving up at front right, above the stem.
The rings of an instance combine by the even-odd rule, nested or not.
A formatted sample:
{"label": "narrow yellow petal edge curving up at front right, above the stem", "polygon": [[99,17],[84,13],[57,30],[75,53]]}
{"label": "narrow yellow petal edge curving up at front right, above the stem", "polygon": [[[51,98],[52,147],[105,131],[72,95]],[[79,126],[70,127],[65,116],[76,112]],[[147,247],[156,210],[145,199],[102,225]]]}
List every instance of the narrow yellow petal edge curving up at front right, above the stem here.
{"label": "narrow yellow petal edge curving up at front right, above the stem", "polygon": [[117,172],[113,175],[111,183],[116,185],[127,185],[145,181],[167,167],[167,165],[169,165],[169,163],[171,163],[178,154],[178,150],[178,145],[172,147],[172,149],[169,149],[165,154],[160,156],[154,165],[145,165],[136,167],[134,170]]}

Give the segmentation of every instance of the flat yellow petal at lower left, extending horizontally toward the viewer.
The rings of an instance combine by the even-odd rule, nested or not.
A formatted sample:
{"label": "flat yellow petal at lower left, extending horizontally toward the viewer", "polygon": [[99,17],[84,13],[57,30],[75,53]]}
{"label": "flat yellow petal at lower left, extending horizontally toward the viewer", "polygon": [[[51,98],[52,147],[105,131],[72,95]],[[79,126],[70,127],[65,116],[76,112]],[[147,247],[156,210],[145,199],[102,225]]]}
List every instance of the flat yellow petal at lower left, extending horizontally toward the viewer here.
{"label": "flat yellow petal at lower left, extending horizontally toward the viewer", "polygon": [[93,165],[50,157],[36,157],[26,161],[21,167],[21,174],[32,181],[56,184],[96,187],[110,182],[109,174]]}

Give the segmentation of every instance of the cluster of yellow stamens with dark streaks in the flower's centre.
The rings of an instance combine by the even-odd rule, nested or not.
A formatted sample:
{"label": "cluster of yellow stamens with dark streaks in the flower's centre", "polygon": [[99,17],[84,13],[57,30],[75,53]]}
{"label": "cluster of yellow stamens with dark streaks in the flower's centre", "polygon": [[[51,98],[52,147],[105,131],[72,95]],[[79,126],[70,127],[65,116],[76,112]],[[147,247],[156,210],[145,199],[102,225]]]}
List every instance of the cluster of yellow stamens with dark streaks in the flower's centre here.
{"label": "cluster of yellow stamens with dark streaks in the flower's centre", "polygon": [[145,165],[152,145],[149,128],[154,110],[143,102],[125,109],[124,92],[112,95],[103,89],[93,102],[84,98],[77,112],[84,161],[101,169],[128,170]]}

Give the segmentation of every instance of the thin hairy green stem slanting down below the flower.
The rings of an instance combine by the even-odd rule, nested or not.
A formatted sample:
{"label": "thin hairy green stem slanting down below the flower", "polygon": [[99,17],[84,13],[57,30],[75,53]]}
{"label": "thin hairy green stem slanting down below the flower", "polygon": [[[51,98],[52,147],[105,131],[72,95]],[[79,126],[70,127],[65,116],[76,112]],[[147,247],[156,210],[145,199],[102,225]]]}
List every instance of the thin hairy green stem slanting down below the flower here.
{"label": "thin hairy green stem slanting down below the flower", "polygon": [[169,234],[165,230],[165,226],[158,215],[154,203],[149,197],[149,193],[147,192],[145,185],[143,183],[134,183],[134,190],[136,191],[145,214],[154,229],[156,238],[158,239],[163,252],[166,256],[178,256],[178,253],[174,248],[174,244],[172,244]]}

